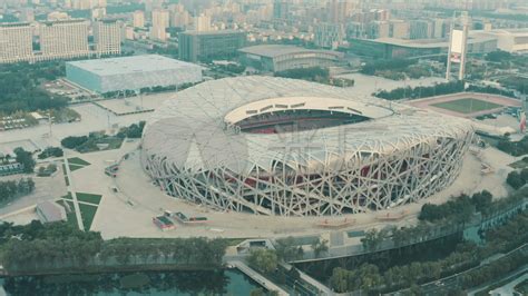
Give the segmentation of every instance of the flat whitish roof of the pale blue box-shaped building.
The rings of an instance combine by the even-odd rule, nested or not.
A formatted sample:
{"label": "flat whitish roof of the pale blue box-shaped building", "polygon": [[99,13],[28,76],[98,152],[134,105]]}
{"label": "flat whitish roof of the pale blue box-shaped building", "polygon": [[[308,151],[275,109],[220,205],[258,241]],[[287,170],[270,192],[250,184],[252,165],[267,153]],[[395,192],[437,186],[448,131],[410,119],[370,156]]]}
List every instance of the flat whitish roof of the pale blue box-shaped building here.
{"label": "flat whitish roof of the pale blue box-shaped building", "polygon": [[163,70],[188,69],[197,65],[157,55],[119,57],[97,60],[70,61],[67,65],[81,68],[99,76],[126,75]]}

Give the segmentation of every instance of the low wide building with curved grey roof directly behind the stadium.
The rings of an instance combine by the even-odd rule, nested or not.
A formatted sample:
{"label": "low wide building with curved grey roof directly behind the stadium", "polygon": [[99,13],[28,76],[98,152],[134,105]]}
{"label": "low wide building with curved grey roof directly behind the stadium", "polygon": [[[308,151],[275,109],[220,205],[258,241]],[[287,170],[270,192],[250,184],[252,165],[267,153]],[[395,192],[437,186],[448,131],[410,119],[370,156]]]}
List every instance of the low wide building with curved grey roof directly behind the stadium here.
{"label": "low wide building with curved grey roof directly behind the stadium", "polygon": [[299,68],[338,66],[344,53],[331,50],[305,49],[294,46],[254,46],[238,50],[241,60],[265,71],[285,71]]}

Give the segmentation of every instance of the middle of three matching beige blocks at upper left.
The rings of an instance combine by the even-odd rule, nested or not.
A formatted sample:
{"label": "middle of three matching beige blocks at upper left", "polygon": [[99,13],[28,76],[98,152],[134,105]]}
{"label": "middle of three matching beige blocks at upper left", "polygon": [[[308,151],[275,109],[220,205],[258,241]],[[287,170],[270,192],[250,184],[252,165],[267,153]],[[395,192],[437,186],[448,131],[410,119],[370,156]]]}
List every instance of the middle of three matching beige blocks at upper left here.
{"label": "middle of three matching beige blocks at upper left", "polygon": [[76,58],[88,56],[88,22],[81,19],[40,23],[42,58]]}

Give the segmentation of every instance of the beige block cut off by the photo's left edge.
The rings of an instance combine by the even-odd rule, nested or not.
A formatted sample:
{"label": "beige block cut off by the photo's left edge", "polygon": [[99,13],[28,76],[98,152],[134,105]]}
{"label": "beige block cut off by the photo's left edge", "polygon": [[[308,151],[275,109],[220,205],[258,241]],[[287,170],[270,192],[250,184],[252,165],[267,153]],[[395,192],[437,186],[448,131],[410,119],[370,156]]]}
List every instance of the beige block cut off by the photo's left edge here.
{"label": "beige block cut off by the photo's left edge", "polygon": [[0,63],[31,60],[33,33],[28,22],[0,23]]}

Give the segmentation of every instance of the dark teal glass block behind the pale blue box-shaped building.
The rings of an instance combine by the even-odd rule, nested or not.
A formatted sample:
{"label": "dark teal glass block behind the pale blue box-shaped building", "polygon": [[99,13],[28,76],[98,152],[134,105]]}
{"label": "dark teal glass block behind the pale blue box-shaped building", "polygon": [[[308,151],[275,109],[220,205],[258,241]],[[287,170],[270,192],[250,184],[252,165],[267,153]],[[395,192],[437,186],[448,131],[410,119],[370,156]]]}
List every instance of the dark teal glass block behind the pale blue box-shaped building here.
{"label": "dark teal glass block behind the pale blue box-shaped building", "polygon": [[187,61],[225,59],[244,47],[246,33],[233,30],[179,33],[179,58]]}

